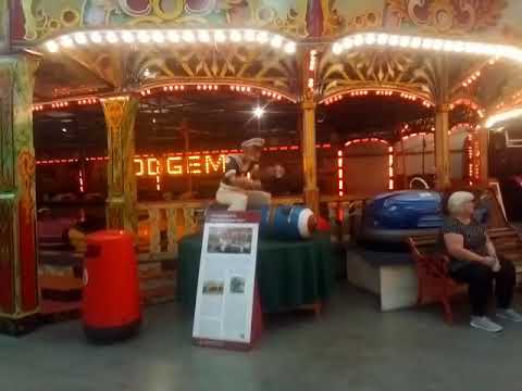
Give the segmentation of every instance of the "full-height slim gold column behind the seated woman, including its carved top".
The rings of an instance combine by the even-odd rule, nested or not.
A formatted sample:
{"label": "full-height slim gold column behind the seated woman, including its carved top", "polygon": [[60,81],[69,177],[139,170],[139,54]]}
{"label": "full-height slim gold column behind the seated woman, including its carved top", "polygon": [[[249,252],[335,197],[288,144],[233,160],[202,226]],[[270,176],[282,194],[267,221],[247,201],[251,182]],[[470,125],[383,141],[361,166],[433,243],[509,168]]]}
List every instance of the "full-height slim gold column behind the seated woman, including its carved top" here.
{"label": "full-height slim gold column behind the seated woman, including its carved top", "polygon": [[435,105],[435,188],[439,191],[451,186],[449,166],[449,75],[448,59],[437,59],[438,85]]}

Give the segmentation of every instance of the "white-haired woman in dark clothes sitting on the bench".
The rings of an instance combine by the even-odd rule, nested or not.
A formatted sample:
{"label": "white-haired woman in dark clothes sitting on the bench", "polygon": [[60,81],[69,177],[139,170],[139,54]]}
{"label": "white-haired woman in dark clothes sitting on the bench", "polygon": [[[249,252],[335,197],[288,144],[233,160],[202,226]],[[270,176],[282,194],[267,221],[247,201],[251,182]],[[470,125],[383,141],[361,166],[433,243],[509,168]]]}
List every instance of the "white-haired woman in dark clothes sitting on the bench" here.
{"label": "white-haired woman in dark clothes sitting on the bench", "polygon": [[522,315],[510,307],[515,286],[511,262],[497,257],[487,237],[486,227],[473,218],[474,195],[457,191],[448,200],[449,217],[443,226],[446,251],[450,256],[450,275],[458,282],[468,283],[472,307],[472,327],[498,332],[502,327],[486,316],[488,299],[495,280],[497,317],[522,321]]}

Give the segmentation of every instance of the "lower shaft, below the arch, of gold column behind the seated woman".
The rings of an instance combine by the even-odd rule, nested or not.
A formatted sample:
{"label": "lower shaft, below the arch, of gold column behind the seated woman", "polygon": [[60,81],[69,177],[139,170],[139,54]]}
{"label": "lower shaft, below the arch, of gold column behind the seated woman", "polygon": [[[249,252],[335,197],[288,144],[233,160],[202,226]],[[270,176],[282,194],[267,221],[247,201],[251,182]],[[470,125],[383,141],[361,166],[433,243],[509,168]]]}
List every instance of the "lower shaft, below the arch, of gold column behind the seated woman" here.
{"label": "lower shaft, below the arch, of gold column behind the seated woman", "polygon": [[449,162],[449,104],[435,108],[435,188],[451,186]]}

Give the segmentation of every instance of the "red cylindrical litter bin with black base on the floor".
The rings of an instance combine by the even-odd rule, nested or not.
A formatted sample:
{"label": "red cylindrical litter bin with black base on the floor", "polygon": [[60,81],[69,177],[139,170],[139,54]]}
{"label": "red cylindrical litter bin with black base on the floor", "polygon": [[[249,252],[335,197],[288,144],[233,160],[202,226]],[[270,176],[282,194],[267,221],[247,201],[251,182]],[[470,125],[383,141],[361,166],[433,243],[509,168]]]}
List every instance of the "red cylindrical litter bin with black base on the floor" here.
{"label": "red cylindrical litter bin with black base on the floor", "polygon": [[141,307],[130,235],[104,230],[87,237],[82,316],[90,340],[110,342],[138,332]]}

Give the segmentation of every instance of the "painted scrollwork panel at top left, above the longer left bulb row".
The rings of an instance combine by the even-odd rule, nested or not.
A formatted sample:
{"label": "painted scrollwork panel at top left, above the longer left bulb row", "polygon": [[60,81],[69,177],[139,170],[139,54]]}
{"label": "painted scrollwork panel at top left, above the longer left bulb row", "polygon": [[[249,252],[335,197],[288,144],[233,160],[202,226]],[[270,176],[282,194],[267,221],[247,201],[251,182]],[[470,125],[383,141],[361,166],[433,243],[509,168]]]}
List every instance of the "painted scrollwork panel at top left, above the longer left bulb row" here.
{"label": "painted scrollwork panel at top left, above the longer left bulb row", "polygon": [[[307,0],[14,0],[17,40],[103,26],[265,27],[307,35]],[[23,21],[23,22],[21,22]]]}

